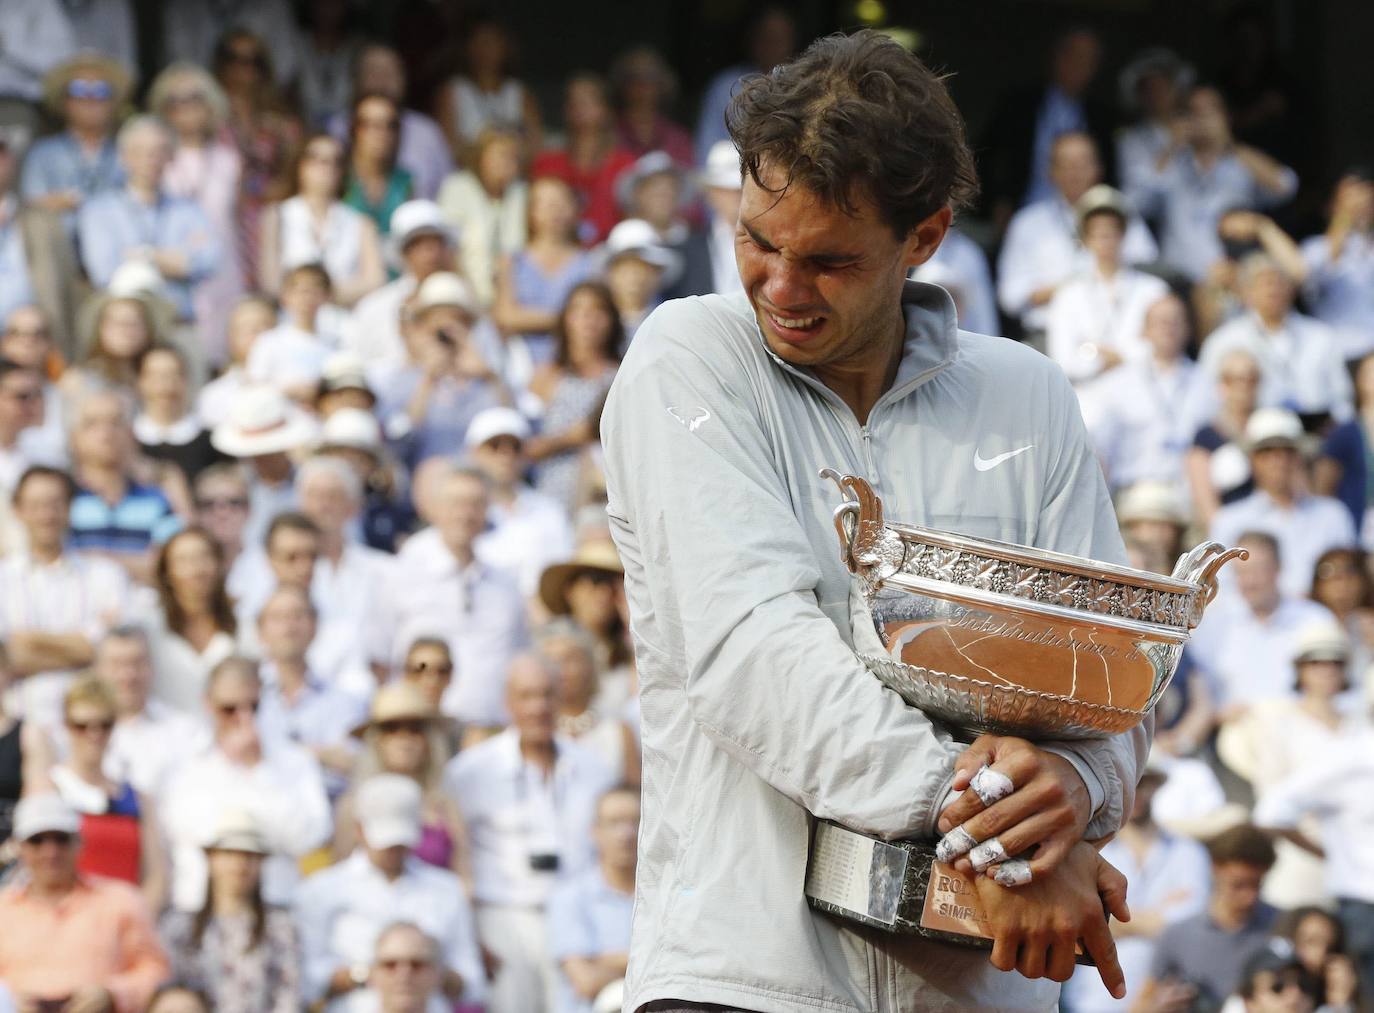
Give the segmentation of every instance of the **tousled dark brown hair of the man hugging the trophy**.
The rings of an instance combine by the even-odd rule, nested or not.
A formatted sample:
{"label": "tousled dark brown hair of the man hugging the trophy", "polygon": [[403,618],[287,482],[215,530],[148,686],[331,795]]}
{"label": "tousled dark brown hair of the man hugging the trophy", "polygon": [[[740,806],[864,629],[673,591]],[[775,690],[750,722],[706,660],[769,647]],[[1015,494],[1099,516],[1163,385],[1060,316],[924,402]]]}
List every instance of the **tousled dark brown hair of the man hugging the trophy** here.
{"label": "tousled dark brown hair of the man hugging the trophy", "polygon": [[870,29],[819,38],[793,62],[745,81],[725,126],[760,187],[767,162],[786,173],[783,190],[796,183],[846,214],[867,198],[899,239],[947,205],[959,210],[978,190],[944,78]]}

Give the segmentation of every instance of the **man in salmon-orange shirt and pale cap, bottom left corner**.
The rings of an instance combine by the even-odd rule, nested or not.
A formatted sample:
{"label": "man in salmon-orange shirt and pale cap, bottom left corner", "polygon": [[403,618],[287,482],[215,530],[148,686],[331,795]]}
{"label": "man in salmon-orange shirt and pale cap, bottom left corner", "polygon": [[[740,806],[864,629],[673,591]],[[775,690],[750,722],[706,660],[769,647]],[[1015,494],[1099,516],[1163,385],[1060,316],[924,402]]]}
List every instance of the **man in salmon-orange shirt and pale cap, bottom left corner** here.
{"label": "man in salmon-orange shirt and pale cap, bottom left corner", "polygon": [[139,1013],[168,961],[133,887],[77,871],[80,827],[55,794],[19,803],[14,836],[27,878],[0,892],[0,979],[21,1006]]}

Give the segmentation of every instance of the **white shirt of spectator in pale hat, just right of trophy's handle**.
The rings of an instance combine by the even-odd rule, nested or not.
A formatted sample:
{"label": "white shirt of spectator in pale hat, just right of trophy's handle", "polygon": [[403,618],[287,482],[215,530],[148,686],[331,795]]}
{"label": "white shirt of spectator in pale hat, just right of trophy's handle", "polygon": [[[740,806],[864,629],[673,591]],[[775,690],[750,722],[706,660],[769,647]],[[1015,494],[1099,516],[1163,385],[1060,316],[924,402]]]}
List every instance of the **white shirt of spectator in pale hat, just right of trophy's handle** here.
{"label": "white shirt of spectator in pale hat, just right of trophy's handle", "polygon": [[1292,507],[1282,507],[1256,489],[1227,503],[1212,518],[1210,537],[1224,546],[1234,546],[1248,531],[1263,531],[1278,540],[1279,590],[1294,598],[1312,590],[1312,573],[1322,553],[1356,546],[1351,511],[1330,496],[1303,496]]}

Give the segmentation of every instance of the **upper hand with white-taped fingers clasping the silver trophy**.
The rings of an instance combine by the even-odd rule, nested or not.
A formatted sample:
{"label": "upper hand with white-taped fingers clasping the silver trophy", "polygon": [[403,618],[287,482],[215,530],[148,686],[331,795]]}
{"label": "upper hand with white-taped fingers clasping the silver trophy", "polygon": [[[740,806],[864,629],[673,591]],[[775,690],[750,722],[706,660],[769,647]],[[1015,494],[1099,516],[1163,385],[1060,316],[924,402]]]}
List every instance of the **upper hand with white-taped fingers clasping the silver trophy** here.
{"label": "upper hand with white-taped fingers clasping the silver trophy", "polygon": [[[1009,778],[1011,783],[1006,797],[987,805],[978,792],[970,789],[982,767]],[[1092,818],[1088,786],[1073,764],[1024,738],[978,735],[955,760],[954,788],[963,794],[941,814],[938,827],[945,834],[941,845],[952,848],[960,871],[982,871],[984,865],[1000,860],[981,862],[995,847],[991,841],[995,837],[1002,856],[1035,849],[1030,877],[1039,880],[1054,871],[1069,849],[1083,840]],[[988,845],[976,849],[977,855],[971,858],[960,858],[969,852],[970,841]],[[974,867],[973,858],[980,859],[978,867]]]}

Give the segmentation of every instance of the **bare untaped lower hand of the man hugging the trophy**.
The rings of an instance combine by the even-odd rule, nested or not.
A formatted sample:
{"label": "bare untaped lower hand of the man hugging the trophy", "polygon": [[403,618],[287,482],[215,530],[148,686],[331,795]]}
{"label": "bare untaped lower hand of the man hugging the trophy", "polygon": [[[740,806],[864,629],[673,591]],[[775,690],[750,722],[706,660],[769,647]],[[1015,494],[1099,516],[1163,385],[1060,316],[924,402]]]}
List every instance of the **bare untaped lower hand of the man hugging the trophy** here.
{"label": "bare untaped lower hand of the man hugging the trophy", "polygon": [[1110,911],[1121,921],[1131,920],[1125,877],[1091,844],[1073,845],[1058,869],[1026,887],[1010,889],[980,876],[976,888],[992,926],[991,961],[998,970],[1068,981],[1081,940],[1102,984],[1117,999],[1125,997],[1125,976],[1106,917]]}

